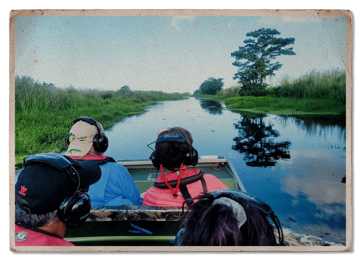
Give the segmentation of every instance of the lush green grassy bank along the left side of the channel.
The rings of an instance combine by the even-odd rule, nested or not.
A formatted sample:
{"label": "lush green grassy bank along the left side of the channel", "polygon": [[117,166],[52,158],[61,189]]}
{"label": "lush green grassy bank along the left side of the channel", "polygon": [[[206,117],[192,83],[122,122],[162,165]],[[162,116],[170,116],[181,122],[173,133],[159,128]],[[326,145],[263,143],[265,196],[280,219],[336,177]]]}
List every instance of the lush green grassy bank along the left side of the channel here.
{"label": "lush green grassy bank along the left side of the channel", "polygon": [[15,163],[29,154],[66,149],[71,121],[79,116],[92,117],[109,129],[127,116],[144,112],[147,104],[187,95],[131,91],[128,86],[117,91],[78,91],[16,77]]}

